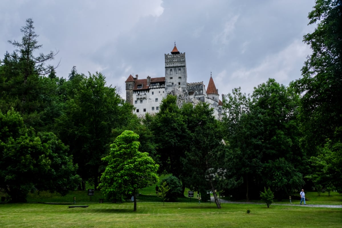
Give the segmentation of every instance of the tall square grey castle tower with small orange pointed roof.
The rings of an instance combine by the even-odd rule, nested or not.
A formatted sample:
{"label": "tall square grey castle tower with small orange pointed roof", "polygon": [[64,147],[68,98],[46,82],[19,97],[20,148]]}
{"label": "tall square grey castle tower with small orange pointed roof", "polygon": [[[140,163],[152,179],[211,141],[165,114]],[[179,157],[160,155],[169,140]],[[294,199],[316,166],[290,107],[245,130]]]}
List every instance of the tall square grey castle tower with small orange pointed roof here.
{"label": "tall square grey castle tower with small orange pointed roof", "polygon": [[165,93],[169,94],[174,88],[186,88],[186,82],[185,52],[180,53],[174,44],[171,54],[165,54]]}

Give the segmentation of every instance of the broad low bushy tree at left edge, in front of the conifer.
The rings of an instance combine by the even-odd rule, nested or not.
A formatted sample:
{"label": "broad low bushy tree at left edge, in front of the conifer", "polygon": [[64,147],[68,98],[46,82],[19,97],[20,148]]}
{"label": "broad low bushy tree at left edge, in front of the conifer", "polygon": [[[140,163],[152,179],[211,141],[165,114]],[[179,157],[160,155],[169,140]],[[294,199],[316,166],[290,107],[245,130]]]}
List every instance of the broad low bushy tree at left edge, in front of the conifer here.
{"label": "broad low bushy tree at left edge, in front of the conifer", "polygon": [[80,179],[67,150],[53,133],[27,128],[13,109],[0,111],[0,188],[12,202],[25,202],[34,190],[74,190]]}

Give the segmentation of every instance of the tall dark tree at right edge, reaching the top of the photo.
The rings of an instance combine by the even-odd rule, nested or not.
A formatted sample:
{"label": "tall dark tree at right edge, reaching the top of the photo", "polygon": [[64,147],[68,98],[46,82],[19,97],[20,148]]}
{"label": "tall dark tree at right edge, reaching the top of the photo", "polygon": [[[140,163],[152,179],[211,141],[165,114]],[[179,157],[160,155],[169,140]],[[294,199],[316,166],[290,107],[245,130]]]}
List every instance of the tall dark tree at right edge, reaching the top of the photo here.
{"label": "tall dark tree at right edge, reaching the top of the photo", "polygon": [[[342,4],[341,0],[316,0],[309,13],[309,25],[317,25],[312,33],[305,35],[304,42],[310,45],[312,54],[302,68],[302,78],[295,82],[295,88],[302,93],[299,119],[303,134],[302,148],[314,161],[312,177],[324,173],[335,187],[341,186],[340,170],[328,174],[330,168],[321,167],[324,172],[317,173],[315,167],[326,163],[327,157],[341,156],[330,153],[329,148],[339,148],[342,138]],[[324,152],[324,153],[323,153]],[[340,161],[341,157],[328,160]],[[341,166],[341,164],[337,164]],[[316,180],[315,180],[316,179]],[[314,182],[317,178],[313,178]],[[331,181],[330,181],[331,180]],[[328,181],[328,179],[327,179]],[[320,181],[319,181],[320,182]],[[340,189],[340,187],[339,187]]]}

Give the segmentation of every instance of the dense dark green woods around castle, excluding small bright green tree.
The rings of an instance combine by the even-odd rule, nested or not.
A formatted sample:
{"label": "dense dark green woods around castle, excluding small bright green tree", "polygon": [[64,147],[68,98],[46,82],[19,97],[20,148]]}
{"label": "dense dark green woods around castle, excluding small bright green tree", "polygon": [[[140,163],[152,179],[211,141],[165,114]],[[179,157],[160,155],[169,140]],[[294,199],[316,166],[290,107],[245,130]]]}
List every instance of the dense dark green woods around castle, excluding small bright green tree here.
{"label": "dense dark green woods around castle, excluding small bright green tree", "polygon": [[[120,88],[101,72],[57,76],[58,53],[39,53],[31,18],[13,52],[0,59],[0,191],[12,202],[28,192],[85,190],[101,186],[106,158],[126,130],[139,151],[172,174],[183,188],[277,199],[300,189],[342,192],[342,6],[317,0],[308,15],[316,25],[303,37],[312,54],[302,77],[289,85],[269,79],[252,94],[224,95],[222,121],[206,103],[177,106],[163,99],[156,115],[133,115]],[[39,53],[39,54],[37,54]]]}

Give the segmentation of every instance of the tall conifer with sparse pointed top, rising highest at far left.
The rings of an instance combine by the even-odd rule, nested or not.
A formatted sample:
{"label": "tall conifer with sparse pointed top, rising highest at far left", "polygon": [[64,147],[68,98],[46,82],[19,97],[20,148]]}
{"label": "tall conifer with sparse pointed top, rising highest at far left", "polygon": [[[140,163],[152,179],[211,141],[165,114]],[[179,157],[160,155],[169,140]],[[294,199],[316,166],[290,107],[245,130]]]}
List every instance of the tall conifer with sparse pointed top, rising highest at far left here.
{"label": "tall conifer with sparse pointed top, rising highest at far left", "polygon": [[[37,54],[42,47],[38,44],[31,18],[21,29],[21,41],[9,41],[16,49],[6,53],[0,61],[0,109],[7,112],[13,107],[19,111],[24,122],[36,130],[50,126],[46,120],[53,120],[55,111],[56,76],[54,69],[47,62],[58,53]],[[45,77],[49,75],[49,77]],[[44,128],[43,130],[46,130]]]}

